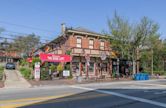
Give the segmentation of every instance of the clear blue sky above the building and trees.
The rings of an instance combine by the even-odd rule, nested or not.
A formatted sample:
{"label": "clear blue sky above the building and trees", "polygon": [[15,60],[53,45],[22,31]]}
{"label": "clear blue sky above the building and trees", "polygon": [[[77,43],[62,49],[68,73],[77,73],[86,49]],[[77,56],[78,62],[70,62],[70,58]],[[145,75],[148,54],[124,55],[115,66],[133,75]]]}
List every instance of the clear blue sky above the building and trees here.
{"label": "clear blue sky above the building and trees", "polygon": [[161,36],[165,39],[165,4],[166,0],[0,0],[0,27],[7,31],[35,33],[44,40],[51,40],[60,33],[63,22],[68,27],[81,26],[96,32],[107,30],[107,17],[112,18],[116,10],[134,23],[143,16],[149,17],[160,25]]}

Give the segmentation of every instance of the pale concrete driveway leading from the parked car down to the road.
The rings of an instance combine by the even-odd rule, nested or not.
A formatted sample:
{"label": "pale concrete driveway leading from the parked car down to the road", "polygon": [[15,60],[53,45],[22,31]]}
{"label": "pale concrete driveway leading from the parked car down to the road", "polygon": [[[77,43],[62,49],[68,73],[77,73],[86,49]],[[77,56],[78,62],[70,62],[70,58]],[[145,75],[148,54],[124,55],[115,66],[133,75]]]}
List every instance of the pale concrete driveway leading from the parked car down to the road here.
{"label": "pale concrete driveway leading from the parked car down to the road", "polygon": [[28,88],[31,85],[22,77],[18,70],[5,70],[4,88]]}

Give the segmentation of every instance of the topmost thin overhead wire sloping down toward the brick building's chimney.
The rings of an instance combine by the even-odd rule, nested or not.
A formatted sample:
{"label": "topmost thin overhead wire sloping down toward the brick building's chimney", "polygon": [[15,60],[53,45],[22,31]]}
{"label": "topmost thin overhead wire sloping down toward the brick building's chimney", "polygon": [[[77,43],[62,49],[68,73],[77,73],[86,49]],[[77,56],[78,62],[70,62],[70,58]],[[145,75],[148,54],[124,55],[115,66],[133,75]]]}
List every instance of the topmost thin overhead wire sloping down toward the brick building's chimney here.
{"label": "topmost thin overhead wire sloping down toward the brick building's chimney", "polygon": [[32,26],[14,24],[14,23],[6,22],[6,21],[0,21],[0,23],[1,23],[1,24],[12,25],[12,26],[17,26],[17,27],[22,27],[22,28],[36,29],[36,30],[39,30],[39,31],[44,31],[44,32],[49,32],[49,33],[55,32],[55,31],[53,31],[53,30],[47,30],[47,29],[42,29],[42,28],[37,28],[37,27],[32,27]]}

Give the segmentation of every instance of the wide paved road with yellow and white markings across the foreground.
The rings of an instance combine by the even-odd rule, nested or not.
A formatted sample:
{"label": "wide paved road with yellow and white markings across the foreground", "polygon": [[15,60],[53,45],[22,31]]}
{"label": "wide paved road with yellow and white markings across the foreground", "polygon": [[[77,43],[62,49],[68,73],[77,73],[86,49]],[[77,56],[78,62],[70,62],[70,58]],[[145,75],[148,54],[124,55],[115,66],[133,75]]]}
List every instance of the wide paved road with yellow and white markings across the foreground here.
{"label": "wide paved road with yellow and white markings across the foreground", "polygon": [[0,89],[0,108],[165,108],[166,80]]}

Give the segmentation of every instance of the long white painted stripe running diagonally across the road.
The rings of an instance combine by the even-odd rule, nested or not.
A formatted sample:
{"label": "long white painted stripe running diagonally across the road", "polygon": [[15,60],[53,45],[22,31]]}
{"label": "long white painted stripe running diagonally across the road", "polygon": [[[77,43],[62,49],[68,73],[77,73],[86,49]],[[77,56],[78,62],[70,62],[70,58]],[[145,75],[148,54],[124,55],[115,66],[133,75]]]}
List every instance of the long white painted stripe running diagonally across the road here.
{"label": "long white painted stripe running diagonally across the road", "polygon": [[165,103],[156,102],[156,101],[153,101],[153,100],[148,100],[148,99],[134,97],[134,96],[129,96],[129,95],[125,95],[125,94],[121,94],[121,93],[117,93],[117,92],[105,91],[105,90],[97,90],[97,89],[86,88],[86,87],[81,87],[81,86],[71,86],[71,87],[72,88],[77,88],[77,89],[82,89],[82,90],[90,90],[90,91],[96,91],[96,92],[99,92],[99,93],[110,94],[110,95],[114,95],[114,96],[130,99],[130,100],[135,100],[135,101],[148,103],[148,104],[152,104],[152,105],[156,105],[156,106],[160,106],[160,107],[165,107],[166,108],[166,104]]}

